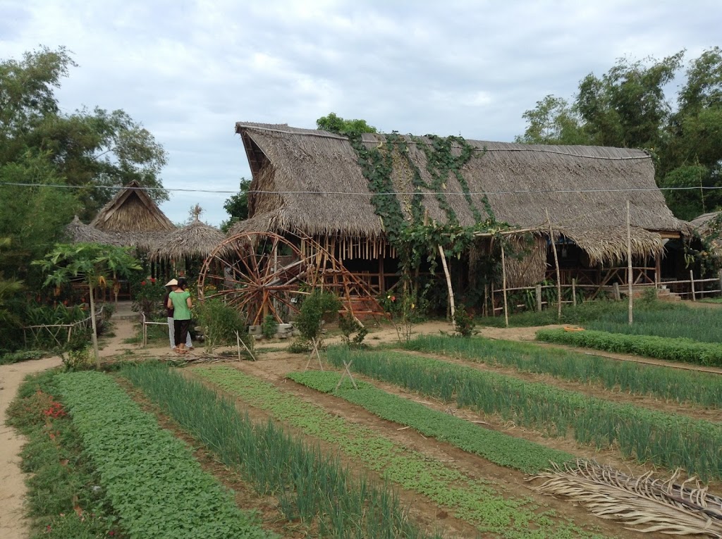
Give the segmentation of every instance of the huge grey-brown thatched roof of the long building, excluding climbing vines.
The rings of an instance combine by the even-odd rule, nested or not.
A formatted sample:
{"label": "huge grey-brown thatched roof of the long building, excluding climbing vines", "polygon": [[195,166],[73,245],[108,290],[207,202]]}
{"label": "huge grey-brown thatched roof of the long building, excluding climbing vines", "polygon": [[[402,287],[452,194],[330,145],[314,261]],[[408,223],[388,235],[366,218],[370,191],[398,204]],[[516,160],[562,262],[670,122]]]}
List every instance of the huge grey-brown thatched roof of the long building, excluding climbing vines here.
{"label": "huge grey-brown thatched roof of the long building, excluding climbing vines", "polygon": [[[350,237],[383,236],[383,224],[370,203],[367,180],[357,154],[344,136],[286,125],[237,123],[253,172],[249,194],[251,219],[230,233],[250,230],[292,230],[308,235]],[[409,157],[422,179],[431,185],[426,156],[419,144],[426,137],[404,136]],[[419,140],[420,139],[420,140]],[[368,148],[386,139],[365,133]],[[687,233],[687,224],[675,218],[656,187],[651,157],[635,149],[601,146],[541,146],[490,141],[467,141],[478,150],[461,170],[474,205],[483,213],[484,195],[495,218],[520,228],[552,226],[578,242],[593,261],[616,260],[625,248],[626,201],[631,204],[635,255],[660,253],[661,237]],[[486,152],[484,153],[484,149]],[[457,154],[460,149],[456,149]],[[403,159],[394,159],[393,182],[401,206],[409,206],[411,176]],[[446,199],[462,225],[474,216],[458,180],[450,175]],[[437,198],[425,193],[430,219],[446,222]],[[620,240],[622,243],[620,244]]]}

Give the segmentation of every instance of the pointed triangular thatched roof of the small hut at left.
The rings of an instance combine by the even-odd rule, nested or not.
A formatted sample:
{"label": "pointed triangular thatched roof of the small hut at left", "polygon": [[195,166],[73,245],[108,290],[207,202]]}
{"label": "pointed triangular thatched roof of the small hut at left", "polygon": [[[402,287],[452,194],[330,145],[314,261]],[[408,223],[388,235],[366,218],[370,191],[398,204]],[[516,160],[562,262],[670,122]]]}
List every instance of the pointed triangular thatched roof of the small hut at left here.
{"label": "pointed triangular thatched roof of the small hut at left", "polygon": [[90,226],[113,232],[175,230],[175,225],[135,180],[118,191],[116,196],[103,206]]}

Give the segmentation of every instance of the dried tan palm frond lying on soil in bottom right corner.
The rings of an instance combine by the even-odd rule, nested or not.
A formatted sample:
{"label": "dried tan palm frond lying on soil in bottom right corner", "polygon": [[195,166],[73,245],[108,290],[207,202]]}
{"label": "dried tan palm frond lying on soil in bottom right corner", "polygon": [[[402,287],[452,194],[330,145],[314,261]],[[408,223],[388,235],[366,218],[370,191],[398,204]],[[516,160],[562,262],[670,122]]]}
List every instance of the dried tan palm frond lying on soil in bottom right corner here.
{"label": "dried tan palm frond lying on soil in bottom right corner", "polygon": [[553,470],[530,479],[547,479],[536,488],[539,492],[570,497],[598,517],[635,526],[630,530],[722,538],[722,498],[695,478],[677,484],[679,470],[662,481],[651,472],[635,478],[592,460],[563,469],[552,465]]}

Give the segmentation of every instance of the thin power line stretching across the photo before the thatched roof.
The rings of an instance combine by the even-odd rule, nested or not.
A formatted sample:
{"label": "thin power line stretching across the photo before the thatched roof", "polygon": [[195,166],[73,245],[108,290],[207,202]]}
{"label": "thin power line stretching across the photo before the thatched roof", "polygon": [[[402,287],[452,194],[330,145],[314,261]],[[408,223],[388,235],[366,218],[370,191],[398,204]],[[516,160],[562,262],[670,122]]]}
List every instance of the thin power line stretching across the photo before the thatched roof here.
{"label": "thin power line stretching across the photo before the thatched roof", "polygon": [[[162,188],[162,187],[123,187],[122,185],[62,185],[54,183],[17,183],[17,182],[0,182],[0,187],[4,185],[12,185],[13,187],[51,187],[62,189],[115,189],[115,190],[139,190],[139,191],[173,191],[178,193],[217,193],[217,194],[238,194],[239,190],[219,190],[219,189],[184,189],[184,188]],[[391,191],[388,193],[357,193],[353,191],[280,191],[280,190],[259,190],[253,189],[244,191],[244,193],[253,194],[269,194],[269,195],[354,195],[354,196],[414,196],[414,195],[517,195],[517,194],[539,194],[539,193],[634,193],[634,192],[650,192],[656,190],[666,191],[682,191],[682,190],[718,190],[722,189],[722,185],[696,187],[634,187],[634,188],[617,188],[617,189],[518,189],[503,191],[469,191],[464,193],[461,191],[440,191],[434,193],[431,191]]]}

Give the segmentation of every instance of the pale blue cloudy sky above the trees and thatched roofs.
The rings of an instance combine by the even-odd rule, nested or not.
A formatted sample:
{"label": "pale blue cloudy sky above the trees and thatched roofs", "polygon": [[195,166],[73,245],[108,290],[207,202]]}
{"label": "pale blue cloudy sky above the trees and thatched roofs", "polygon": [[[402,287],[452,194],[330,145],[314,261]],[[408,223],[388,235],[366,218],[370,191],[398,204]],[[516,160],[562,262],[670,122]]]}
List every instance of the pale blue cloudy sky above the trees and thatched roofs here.
{"label": "pale blue cloudy sky above the trees and thatched roofs", "polygon": [[251,178],[237,121],[315,128],[334,112],[513,141],[538,100],[573,98],[617,58],[689,61],[721,42],[719,0],[0,0],[0,58],[65,46],[79,66],[61,108],[123,109],[164,146],[175,223],[196,203],[227,219]]}

